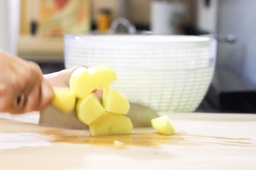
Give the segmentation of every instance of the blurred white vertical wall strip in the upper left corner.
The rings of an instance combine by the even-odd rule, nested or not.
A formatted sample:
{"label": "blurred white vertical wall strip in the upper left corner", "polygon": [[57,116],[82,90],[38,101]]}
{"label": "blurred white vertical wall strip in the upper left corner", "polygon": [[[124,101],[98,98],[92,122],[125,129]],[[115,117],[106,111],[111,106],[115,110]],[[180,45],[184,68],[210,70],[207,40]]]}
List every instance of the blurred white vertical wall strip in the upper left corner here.
{"label": "blurred white vertical wall strip in the upper left corner", "polygon": [[0,0],[0,49],[17,54],[19,0]]}

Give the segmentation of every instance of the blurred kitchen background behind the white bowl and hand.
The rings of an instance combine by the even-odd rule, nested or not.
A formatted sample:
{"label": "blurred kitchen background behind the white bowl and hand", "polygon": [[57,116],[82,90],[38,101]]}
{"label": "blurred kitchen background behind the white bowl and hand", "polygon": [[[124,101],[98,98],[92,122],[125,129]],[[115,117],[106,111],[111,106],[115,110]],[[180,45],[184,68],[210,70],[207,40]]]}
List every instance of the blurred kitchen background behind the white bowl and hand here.
{"label": "blurred kitchen background behind the white bowl and hand", "polygon": [[65,68],[71,33],[202,35],[216,38],[214,77],[197,112],[256,113],[255,0],[0,0],[0,48]]}

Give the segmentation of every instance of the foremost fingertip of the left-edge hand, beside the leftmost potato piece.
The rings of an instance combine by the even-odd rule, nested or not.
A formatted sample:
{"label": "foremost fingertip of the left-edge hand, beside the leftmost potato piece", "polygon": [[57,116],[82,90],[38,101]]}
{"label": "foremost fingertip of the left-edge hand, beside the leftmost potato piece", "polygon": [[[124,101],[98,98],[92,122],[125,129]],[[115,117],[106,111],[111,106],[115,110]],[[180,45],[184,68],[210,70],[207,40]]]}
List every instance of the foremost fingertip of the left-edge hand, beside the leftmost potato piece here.
{"label": "foremost fingertip of the left-edge hand, beside the leftmost potato piece", "polygon": [[41,96],[40,96],[40,111],[45,109],[47,106],[52,104],[54,99],[54,91],[53,87],[46,82],[45,80],[42,81],[41,84]]}

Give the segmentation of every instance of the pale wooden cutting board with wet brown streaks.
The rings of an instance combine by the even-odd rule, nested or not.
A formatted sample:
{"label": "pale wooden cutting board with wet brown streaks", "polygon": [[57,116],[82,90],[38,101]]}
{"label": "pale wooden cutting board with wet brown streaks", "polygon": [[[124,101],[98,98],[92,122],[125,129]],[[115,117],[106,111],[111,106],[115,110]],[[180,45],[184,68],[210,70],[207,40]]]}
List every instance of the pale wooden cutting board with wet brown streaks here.
{"label": "pale wooden cutting board with wet brown streaks", "polygon": [[38,113],[0,114],[0,169],[256,169],[255,114],[168,115],[172,136],[138,128],[90,137],[86,130],[39,126]]}

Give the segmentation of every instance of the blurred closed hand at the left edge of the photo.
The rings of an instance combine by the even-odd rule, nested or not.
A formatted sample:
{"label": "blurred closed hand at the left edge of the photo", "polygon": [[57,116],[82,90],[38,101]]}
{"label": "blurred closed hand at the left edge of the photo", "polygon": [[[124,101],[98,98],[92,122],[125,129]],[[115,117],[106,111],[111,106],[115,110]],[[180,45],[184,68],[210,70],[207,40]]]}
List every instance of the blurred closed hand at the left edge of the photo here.
{"label": "blurred closed hand at the left edge of the photo", "polygon": [[[17,98],[20,94],[24,100]],[[0,112],[39,111],[53,98],[53,88],[36,63],[0,51]]]}

